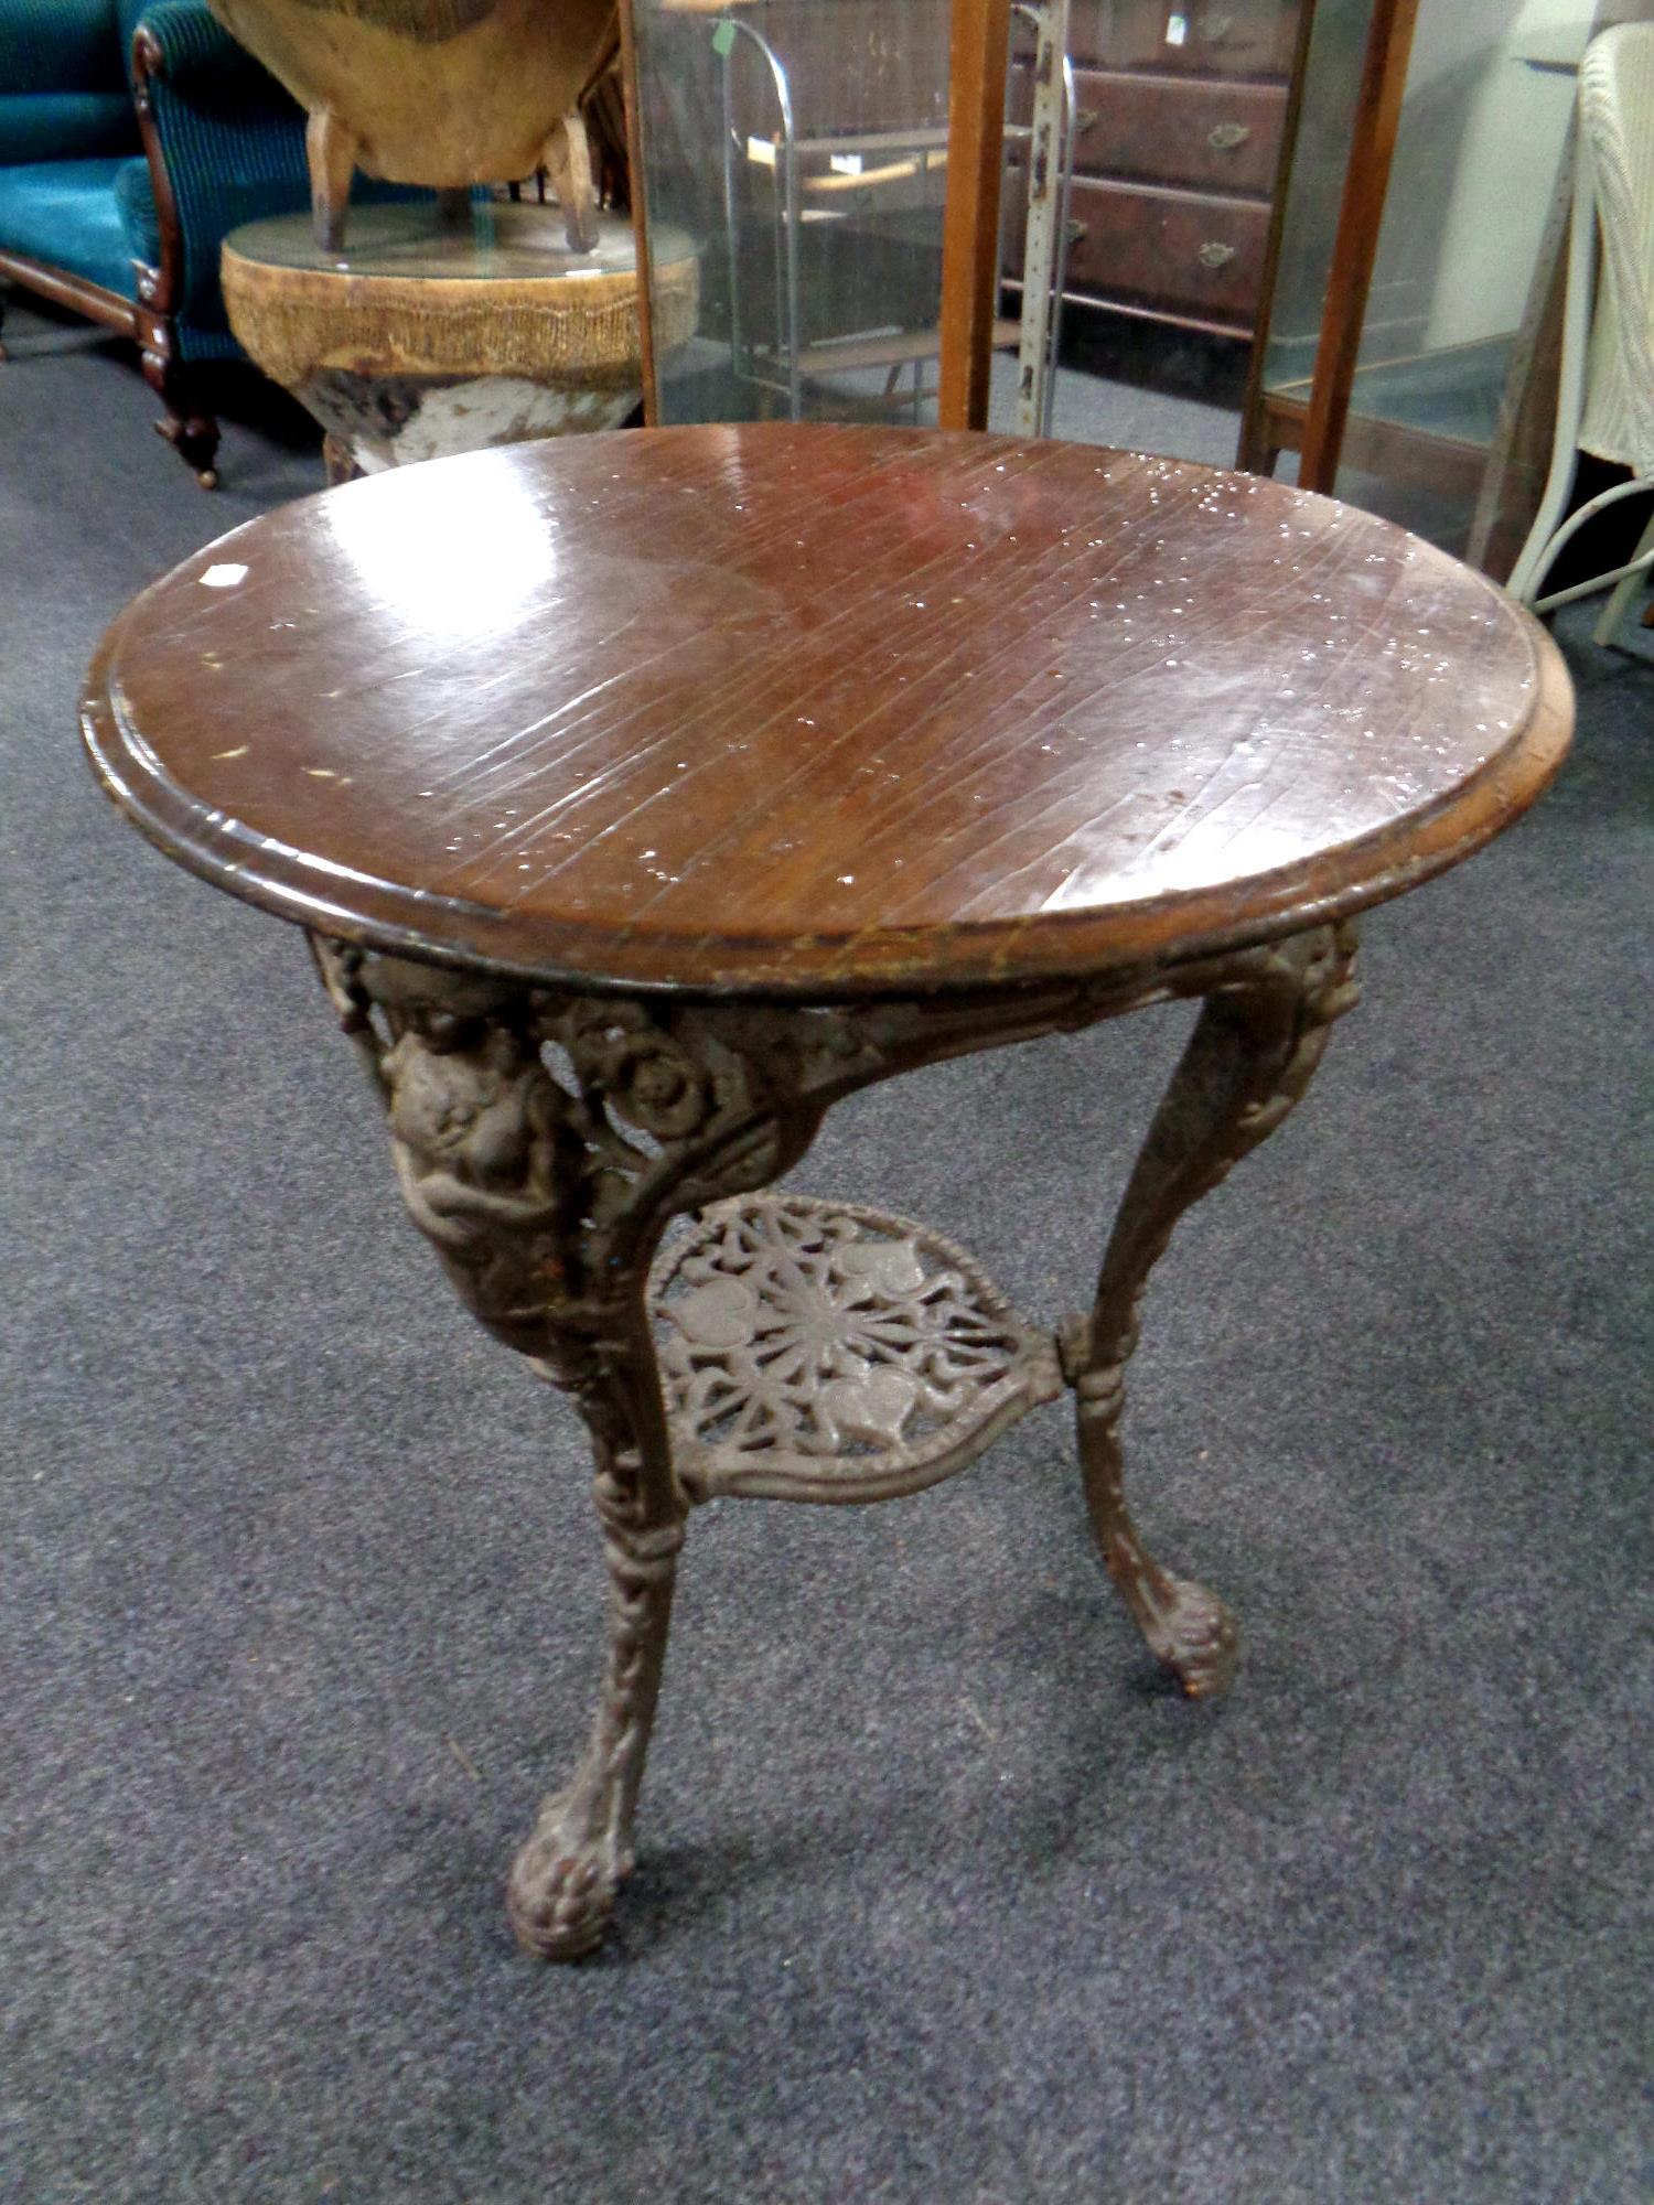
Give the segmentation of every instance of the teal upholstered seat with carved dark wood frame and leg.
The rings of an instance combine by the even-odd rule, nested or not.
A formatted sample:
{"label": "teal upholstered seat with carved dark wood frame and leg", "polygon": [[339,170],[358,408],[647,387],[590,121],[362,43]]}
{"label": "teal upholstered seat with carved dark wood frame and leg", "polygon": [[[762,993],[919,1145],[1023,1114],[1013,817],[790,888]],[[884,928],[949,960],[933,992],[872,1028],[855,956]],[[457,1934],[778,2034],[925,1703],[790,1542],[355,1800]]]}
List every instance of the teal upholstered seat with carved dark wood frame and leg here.
{"label": "teal upholstered seat with carved dark wood frame and leg", "polygon": [[218,247],[304,205],[300,108],[198,0],[0,0],[0,276],[137,342],[205,485],[192,368],[240,357]]}

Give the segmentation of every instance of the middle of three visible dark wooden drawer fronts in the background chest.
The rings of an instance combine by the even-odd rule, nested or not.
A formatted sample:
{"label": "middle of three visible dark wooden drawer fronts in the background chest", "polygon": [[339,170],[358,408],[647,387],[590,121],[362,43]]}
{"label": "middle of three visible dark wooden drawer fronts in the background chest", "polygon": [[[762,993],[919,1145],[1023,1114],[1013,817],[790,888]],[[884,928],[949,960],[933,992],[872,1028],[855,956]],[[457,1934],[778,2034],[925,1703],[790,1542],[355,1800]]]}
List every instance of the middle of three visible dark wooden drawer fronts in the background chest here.
{"label": "middle of three visible dark wooden drawer fronts in the background chest", "polygon": [[1286,86],[1178,84],[1175,77],[1074,77],[1081,174],[1142,176],[1209,192],[1275,187]]}

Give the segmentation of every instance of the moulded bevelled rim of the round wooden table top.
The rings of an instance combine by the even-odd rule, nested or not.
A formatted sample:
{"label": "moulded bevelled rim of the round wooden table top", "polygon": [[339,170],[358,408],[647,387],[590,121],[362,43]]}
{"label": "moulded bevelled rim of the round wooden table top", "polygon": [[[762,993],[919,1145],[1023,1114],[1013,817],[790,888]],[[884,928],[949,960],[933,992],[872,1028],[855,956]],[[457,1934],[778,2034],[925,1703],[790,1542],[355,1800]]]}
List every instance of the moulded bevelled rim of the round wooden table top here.
{"label": "moulded bevelled rim of the round wooden table top", "polygon": [[[348,487],[318,496],[340,494],[348,496]],[[254,525],[247,520],[218,542],[229,545]],[[128,723],[110,677],[128,624],[165,580],[157,578],[110,622],[93,655],[79,708],[93,772],[132,825],[187,871],[298,926],[428,964],[540,986],[849,1001],[1074,979],[1268,942],[1352,917],[1473,856],[1544,794],[1568,754],[1575,721],[1572,681],[1550,635],[1493,582],[1475,576],[1528,646],[1535,679],[1524,723],[1504,750],[1433,805],[1319,858],[1239,884],[970,926],[862,928],[838,937],[640,935],[613,926],[558,926],[377,880],[289,849],[201,805],[168,776]],[[439,911],[448,928],[443,937],[421,924],[421,913],[434,917]]]}

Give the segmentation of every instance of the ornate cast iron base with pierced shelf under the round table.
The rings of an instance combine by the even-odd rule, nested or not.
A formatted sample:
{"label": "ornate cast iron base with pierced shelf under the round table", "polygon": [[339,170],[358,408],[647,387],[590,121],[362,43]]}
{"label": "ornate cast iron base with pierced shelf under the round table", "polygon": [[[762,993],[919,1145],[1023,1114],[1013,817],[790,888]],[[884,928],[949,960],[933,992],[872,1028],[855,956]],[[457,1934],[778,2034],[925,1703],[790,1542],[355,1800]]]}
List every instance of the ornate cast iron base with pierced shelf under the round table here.
{"label": "ornate cast iron base with pierced shelf under the round table", "polygon": [[[384,1096],[408,1213],[479,1323],[571,1396],[598,1462],[609,1671],[584,1757],[512,1870],[523,1945],[576,1960],[604,1934],[633,1865],[677,1552],[712,1495],[915,1493],[1067,1383],[1103,1561],[1182,1689],[1222,1691],[1228,1610],[1153,1559],[1125,1504],[1125,1369],[1178,1217],[1286,1118],[1354,1003],[1350,924],[1105,983],[820,1008],[565,994],[311,944]],[[1191,994],[1202,1014],[1096,1301],[1054,1334],[920,1226],[754,1200],[858,1087]],[[651,1297],[662,1233],[688,1211],[699,1230]]]}

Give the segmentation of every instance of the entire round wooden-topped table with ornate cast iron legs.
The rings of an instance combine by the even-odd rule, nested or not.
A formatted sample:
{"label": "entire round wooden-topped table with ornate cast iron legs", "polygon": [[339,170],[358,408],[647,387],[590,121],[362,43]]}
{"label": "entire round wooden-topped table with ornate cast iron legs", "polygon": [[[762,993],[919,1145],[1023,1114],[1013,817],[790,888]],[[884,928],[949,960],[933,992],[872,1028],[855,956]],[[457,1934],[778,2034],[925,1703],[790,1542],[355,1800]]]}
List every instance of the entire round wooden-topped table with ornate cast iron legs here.
{"label": "entire round wooden-topped table with ornate cast iron legs", "polygon": [[[591,1949],[631,1868],[710,1495],[911,1493],[1067,1387],[1131,1614],[1186,1691],[1226,1680],[1228,1614],[1123,1497],[1138,1297],[1308,1087],[1352,915],[1508,825],[1568,728],[1533,620],[1381,520],[904,430],[393,472],[115,622],[104,787],[309,931],[415,1224],[591,1431],[609,1674],[512,1872],[525,1945]],[[1169,997],[1200,1021],[1085,1314],[765,1193],[856,1087]]]}

